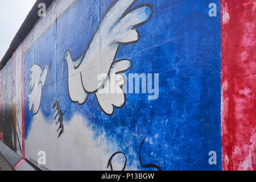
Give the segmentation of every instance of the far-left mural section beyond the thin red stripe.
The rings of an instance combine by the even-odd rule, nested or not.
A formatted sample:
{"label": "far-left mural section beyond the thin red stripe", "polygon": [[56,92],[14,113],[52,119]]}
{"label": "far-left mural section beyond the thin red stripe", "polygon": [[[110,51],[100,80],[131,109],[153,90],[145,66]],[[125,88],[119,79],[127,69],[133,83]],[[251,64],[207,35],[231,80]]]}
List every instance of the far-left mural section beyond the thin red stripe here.
{"label": "far-left mural section beyond the thin red stripe", "polygon": [[[19,53],[17,51],[17,53]],[[22,120],[20,102],[20,64],[13,53],[11,59],[0,71],[0,142],[3,142],[20,156],[22,155]],[[19,81],[20,83],[20,81]]]}

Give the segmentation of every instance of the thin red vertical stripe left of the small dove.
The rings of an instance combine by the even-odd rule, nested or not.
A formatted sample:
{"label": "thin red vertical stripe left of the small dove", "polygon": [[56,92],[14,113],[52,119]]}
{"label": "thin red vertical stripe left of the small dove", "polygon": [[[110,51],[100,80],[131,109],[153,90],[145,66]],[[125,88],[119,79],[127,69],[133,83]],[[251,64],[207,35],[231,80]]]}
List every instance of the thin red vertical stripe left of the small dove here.
{"label": "thin red vertical stripe left of the small dove", "polygon": [[22,84],[22,158],[25,159],[25,118],[24,118],[24,41],[22,42],[21,84]]}

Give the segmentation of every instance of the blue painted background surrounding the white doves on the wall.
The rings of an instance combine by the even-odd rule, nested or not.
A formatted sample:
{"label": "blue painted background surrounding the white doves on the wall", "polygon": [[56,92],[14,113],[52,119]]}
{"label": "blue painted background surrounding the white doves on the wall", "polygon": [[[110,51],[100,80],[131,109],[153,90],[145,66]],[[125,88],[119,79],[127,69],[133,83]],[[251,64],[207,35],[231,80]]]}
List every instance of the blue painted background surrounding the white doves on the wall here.
{"label": "blue painted background surrounding the white doves on the wall", "polygon": [[[67,64],[62,60],[67,49],[73,57],[86,49],[101,19],[98,12],[102,16],[111,2],[101,1],[99,7],[98,0],[79,1],[26,52],[26,138],[33,117],[27,97],[30,68],[35,63],[42,68],[48,64],[51,76],[47,77],[40,105],[46,118],[51,119],[54,114],[51,109],[54,92],[61,109],[67,109],[64,121],[79,113],[90,121],[96,135],[101,134],[102,127],[108,139],[117,142],[127,155],[127,166],[138,162],[139,147],[147,137],[141,152],[143,164],[154,163],[163,170],[221,170],[220,2],[139,0],[135,3],[134,6],[150,3],[154,14],[138,28],[141,40],[121,46],[117,59],[133,61],[126,75],[159,73],[159,98],[148,101],[148,94],[127,94],[126,105],[107,116],[93,94],[82,106],[71,102]],[[208,5],[212,2],[217,4],[217,17],[208,16]],[[137,156],[129,154],[130,148]],[[217,152],[217,165],[209,165],[209,151]]]}

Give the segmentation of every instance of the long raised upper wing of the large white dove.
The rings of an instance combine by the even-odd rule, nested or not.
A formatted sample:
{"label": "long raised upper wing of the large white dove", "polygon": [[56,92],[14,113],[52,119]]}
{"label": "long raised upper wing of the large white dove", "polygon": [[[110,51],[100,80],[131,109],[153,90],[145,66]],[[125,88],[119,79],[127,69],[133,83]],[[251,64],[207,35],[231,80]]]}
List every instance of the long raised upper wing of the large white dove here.
{"label": "long raised upper wing of the large white dove", "polygon": [[[148,5],[129,10],[134,0],[119,0],[107,11],[81,61],[82,84],[88,93],[95,93],[104,81],[98,76],[108,76],[117,51],[121,44],[132,44],[139,40],[139,31],[152,15]],[[129,10],[129,11],[128,11]]]}

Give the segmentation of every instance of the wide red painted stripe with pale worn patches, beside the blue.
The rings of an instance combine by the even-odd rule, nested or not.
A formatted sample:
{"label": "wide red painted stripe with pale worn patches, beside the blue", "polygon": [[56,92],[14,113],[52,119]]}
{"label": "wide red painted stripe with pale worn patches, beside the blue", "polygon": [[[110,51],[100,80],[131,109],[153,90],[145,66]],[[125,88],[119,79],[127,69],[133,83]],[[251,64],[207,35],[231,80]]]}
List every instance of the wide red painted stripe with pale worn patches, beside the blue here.
{"label": "wide red painted stripe with pale worn patches, beside the blue", "polygon": [[221,0],[222,168],[256,170],[256,2]]}

